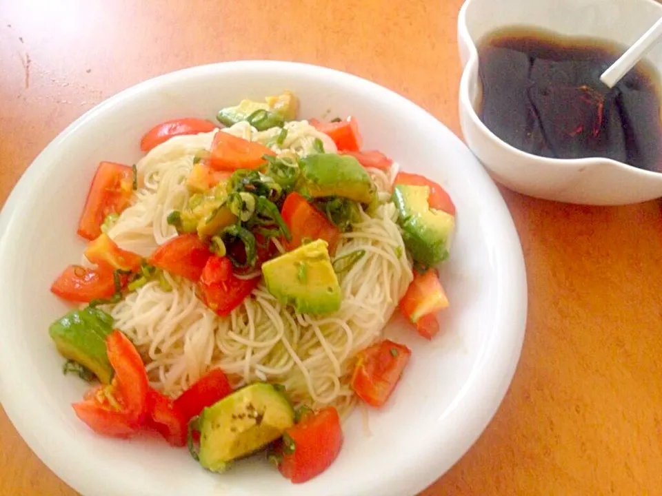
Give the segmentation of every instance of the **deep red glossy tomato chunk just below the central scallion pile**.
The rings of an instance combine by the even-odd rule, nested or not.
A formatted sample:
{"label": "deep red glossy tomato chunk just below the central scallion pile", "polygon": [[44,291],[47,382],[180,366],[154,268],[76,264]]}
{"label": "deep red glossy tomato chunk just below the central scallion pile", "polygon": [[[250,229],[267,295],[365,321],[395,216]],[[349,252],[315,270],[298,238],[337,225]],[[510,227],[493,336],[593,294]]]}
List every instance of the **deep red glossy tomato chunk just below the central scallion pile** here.
{"label": "deep red glossy tomato chunk just below the central scallion pile", "polygon": [[250,295],[259,277],[239,279],[232,273],[228,257],[210,256],[198,283],[200,299],[219,316],[227,316]]}

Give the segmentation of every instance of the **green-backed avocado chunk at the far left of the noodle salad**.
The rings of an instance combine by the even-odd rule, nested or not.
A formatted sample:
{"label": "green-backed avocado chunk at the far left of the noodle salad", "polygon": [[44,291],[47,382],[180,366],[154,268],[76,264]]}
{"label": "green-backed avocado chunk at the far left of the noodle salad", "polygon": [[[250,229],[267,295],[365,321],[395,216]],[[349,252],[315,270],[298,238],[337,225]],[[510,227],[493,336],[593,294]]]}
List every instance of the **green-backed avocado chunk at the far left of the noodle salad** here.
{"label": "green-backed avocado chunk at the far left of the noodle salad", "polygon": [[93,307],[73,310],[48,329],[57,351],[64,358],[86,367],[103,384],[109,384],[113,370],[106,352],[106,336],[112,333],[113,318]]}

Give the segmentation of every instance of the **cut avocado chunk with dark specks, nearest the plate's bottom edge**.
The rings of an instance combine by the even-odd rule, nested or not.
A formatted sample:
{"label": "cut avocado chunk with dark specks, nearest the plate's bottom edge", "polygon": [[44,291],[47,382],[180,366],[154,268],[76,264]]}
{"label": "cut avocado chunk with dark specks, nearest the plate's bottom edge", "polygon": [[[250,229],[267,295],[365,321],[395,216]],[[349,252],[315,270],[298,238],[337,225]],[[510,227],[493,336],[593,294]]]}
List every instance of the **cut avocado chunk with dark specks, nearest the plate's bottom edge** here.
{"label": "cut avocado chunk with dark specks, nearest the plate's bottom edge", "polygon": [[272,384],[257,382],[205,408],[198,425],[200,464],[222,472],[228,462],[281,437],[294,425],[294,409]]}

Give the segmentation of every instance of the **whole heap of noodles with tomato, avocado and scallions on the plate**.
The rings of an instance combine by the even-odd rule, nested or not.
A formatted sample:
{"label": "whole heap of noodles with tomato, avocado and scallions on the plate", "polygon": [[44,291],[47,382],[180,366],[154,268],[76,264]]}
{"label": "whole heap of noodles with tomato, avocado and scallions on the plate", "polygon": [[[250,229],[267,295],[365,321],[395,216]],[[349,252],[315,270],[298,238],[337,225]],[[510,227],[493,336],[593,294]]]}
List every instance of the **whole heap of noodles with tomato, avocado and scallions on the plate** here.
{"label": "whole heap of noodles with tomato, avocado and scallions on the plate", "polygon": [[97,433],[154,428],[212,471],[269,446],[304,482],[337,457],[340,417],[399,381],[394,311],[439,331],[452,200],[362,150],[356,119],[298,106],[285,92],[221,110],[221,127],[168,121],[134,166],[99,165],[90,243],[51,288],[81,307],[50,327],[65,371],[101,382],[74,404]]}

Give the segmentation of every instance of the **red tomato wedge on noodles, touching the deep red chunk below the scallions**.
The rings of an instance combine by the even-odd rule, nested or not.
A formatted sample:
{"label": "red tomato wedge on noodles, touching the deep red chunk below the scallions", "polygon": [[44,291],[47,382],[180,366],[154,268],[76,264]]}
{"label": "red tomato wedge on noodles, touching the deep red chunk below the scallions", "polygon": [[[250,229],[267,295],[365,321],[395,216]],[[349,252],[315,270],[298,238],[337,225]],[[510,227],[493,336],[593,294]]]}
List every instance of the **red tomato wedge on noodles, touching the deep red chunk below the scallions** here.
{"label": "red tomato wedge on noodles, touching the deep red chunk below the scallions", "polygon": [[211,254],[198,236],[182,234],[155,249],[148,261],[154,267],[197,282]]}

